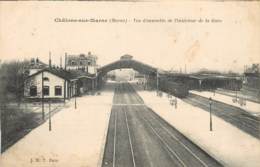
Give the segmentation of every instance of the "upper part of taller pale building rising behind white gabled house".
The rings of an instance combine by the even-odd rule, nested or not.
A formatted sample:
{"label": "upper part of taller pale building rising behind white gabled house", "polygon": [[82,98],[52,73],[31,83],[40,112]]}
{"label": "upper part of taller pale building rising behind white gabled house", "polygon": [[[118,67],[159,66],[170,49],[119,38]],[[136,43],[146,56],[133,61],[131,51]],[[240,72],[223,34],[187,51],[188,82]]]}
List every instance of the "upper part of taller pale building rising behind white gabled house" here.
{"label": "upper part of taller pale building rising behind white gabled house", "polygon": [[89,74],[97,72],[97,56],[88,52],[87,55],[68,55],[65,60],[66,70],[80,70]]}

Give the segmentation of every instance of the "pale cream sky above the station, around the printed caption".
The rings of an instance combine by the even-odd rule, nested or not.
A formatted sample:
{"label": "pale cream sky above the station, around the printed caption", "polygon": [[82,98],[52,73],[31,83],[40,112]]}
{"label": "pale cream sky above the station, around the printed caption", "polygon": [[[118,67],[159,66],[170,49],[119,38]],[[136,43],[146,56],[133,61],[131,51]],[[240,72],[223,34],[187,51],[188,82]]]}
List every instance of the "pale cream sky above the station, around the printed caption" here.
{"label": "pale cream sky above the station, around the printed caption", "polygon": [[[127,19],[127,23],[55,22],[55,18]],[[135,23],[133,19],[172,19]],[[220,23],[176,23],[174,19]],[[259,2],[0,2],[0,59],[39,57],[60,64],[68,54],[91,53],[98,64],[124,54],[152,66],[188,72],[242,72],[260,63]]]}

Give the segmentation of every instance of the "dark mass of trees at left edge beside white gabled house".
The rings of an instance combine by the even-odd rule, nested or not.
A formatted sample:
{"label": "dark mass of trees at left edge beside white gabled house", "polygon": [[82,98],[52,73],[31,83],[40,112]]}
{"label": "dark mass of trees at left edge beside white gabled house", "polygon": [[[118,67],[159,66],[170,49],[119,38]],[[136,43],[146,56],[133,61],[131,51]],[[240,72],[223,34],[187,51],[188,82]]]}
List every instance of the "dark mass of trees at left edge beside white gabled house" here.
{"label": "dark mass of trees at left edge beside white gabled house", "polygon": [[24,72],[28,61],[0,61],[0,120],[2,130],[2,144],[6,143],[8,121],[15,115],[21,114],[19,110],[8,109],[9,102],[20,104],[23,97],[23,85],[26,73]]}

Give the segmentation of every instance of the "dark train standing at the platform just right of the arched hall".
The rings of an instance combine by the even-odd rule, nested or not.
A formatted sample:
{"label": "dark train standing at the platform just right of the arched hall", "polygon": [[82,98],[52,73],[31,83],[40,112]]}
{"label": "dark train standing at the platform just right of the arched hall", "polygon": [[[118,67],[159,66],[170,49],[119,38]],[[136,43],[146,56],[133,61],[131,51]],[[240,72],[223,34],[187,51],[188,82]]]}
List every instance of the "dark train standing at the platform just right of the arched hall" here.
{"label": "dark train standing at the platform just right of the arched hall", "polygon": [[189,94],[189,88],[186,84],[169,81],[167,79],[159,80],[159,90],[179,98],[185,98]]}

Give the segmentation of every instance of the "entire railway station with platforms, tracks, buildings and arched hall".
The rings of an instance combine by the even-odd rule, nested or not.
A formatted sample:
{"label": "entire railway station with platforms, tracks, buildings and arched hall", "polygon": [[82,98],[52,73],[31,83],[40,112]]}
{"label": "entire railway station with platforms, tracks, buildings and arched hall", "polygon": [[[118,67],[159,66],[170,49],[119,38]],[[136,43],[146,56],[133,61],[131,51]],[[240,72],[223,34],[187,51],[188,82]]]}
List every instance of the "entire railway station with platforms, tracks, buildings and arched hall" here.
{"label": "entire railway station with platforms, tracks, buildings and arched hall", "polygon": [[[20,155],[17,147],[33,142],[53,150],[57,157],[47,158],[58,166],[64,166],[66,156],[77,154],[93,160],[86,164],[102,167],[245,165],[248,162],[241,157],[225,156],[218,139],[231,143],[225,149],[230,155],[259,145],[260,104],[242,96],[243,76],[172,73],[128,54],[103,66],[97,65],[91,52],[66,53],[64,61],[65,67],[52,65],[51,59],[49,65],[31,60],[24,97],[27,105],[36,108],[38,124],[42,124],[36,132],[47,137],[24,132],[27,138],[4,148],[0,164],[12,164],[8,155]],[[251,81],[248,75],[247,80]],[[93,129],[96,122],[99,126]],[[74,137],[68,140],[71,131]],[[247,144],[232,143],[231,134]],[[61,145],[50,142],[60,137],[66,145],[74,142],[82,148],[91,143],[93,147],[60,152]],[[29,158],[31,164],[44,164],[46,157],[30,157],[36,151],[21,156],[22,161]],[[93,153],[99,156],[93,158]],[[247,159],[258,154],[251,152]]]}

